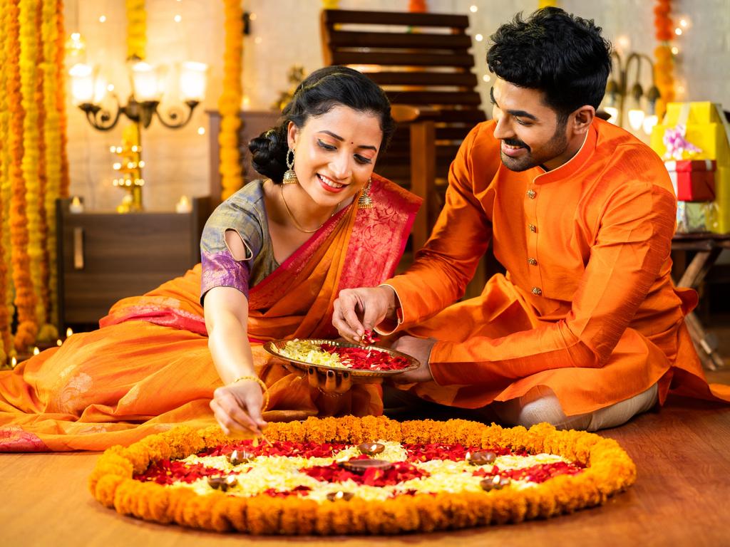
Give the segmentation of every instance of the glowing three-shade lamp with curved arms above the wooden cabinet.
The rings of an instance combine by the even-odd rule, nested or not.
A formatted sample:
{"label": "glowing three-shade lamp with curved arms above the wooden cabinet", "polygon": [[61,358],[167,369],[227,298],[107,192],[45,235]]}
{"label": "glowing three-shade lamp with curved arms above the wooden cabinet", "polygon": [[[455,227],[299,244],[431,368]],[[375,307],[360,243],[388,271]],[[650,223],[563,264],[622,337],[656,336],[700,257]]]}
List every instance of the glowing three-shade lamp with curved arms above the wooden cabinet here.
{"label": "glowing three-shade lamp with curved arms above the wooden cabinet", "polygon": [[99,131],[109,131],[117,125],[120,115],[123,114],[144,128],[149,127],[153,116],[157,115],[162,125],[178,129],[191,120],[193,110],[205,96],[207,65],[204,63],[188,61],[180,66],[178,89],[180,90],[180,100],[188,108],[186,115],[183,115],[177,107],[172,107],[165,113],[161,113],[158,109],[166,92],[164,85],[166,69],[164,67],[153,67],[135,57],[128,61],[128,70],[132,93],[125,106],[121,106],[116,93],[111,93],[115,101],[112,114],[110,109],[102,106],[102,101],[107,92],[113,90],[113,87],[107,87],[107,82],[99,74],[98,67],[82,63],[72,67],[70,71],[71,93],[74,104],[85,112],[86,119],[93,128]]}

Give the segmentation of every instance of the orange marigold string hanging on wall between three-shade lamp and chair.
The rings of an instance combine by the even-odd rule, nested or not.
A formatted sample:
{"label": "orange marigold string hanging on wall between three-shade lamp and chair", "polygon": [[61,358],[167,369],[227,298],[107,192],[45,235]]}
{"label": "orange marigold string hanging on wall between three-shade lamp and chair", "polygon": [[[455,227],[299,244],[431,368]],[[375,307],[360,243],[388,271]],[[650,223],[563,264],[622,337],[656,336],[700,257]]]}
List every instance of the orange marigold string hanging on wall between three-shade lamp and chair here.
{"label": "orange marigold string hanging on wall between three-shade lamp and chair", "polygon": [[240,0],[223,0],[226,45],[223,53],[223,93],[218,99],[220,111],[220,180],[221,199],[227,199],[243,185],[238,132],[241,126],[239,109],[243,98],[243,8]]}

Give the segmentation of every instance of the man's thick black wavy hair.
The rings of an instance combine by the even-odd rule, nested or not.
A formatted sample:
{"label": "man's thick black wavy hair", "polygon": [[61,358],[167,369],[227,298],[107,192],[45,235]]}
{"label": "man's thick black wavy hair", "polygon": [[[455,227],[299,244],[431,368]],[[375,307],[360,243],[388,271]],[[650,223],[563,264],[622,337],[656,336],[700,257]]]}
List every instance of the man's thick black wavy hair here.
{"label": "man's thick black wavy hair", "polygon": [[611,71],[611,44],[593,20],[558,7],[522,13],[490,36],[489,69],[520,88],[544,93],[544,100],[565,123],[575,109],[598,109]]}

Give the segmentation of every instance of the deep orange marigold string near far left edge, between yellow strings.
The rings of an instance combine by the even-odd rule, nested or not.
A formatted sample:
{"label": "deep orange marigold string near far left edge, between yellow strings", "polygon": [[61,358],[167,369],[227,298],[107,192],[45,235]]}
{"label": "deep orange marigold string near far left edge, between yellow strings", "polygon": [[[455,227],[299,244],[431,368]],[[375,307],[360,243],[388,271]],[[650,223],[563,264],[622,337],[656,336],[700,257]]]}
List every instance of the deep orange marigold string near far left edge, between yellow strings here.
{"label": "deep orange marigold string near far left edge, between yellow strings", "polygon": [[[28,257],[28,217],[26,217],[26,181],[23,178],[23,124],[26,118],[23,96],[20,91],[20,2],[9,0],[8,6],[9,55],[7,59],[7,96],[10,109],[8,146],[10,150],[10,243],[12,249],[12,280],[15,284],[15,306],[18,309],[18,330],[15,347],[18,351],[28,348],[36,340],[38,325],[35,320],[36,295],[31,281]],[[26,2],[27,12],[27,2]],[[27,20],[25,34],[27,36]],[[31,33],[34,29],[31,31]],[[32,62],[32,61],[31,61]],[[27,63],[26,63],[27,65]]]}

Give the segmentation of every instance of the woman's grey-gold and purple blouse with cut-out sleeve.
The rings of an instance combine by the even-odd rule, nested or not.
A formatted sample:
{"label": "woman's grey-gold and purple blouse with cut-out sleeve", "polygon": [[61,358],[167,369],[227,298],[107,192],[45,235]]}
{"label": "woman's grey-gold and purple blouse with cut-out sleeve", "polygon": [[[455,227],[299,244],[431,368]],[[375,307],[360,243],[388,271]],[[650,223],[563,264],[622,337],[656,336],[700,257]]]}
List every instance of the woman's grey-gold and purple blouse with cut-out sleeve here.
{"label": "woman's grey-gold and purple blouse with cut-out sleeve", "polygon": [[[246,256],[236,260],[226,244],[226,230],[235,230]],[[261,282],[279,264],[269,237],[264,206],[264,181],[254,180],[216,207],[205,223],[200,241],[202,281],[200,300],[213,287],[234,287],[248,298],[249,287]]]}

